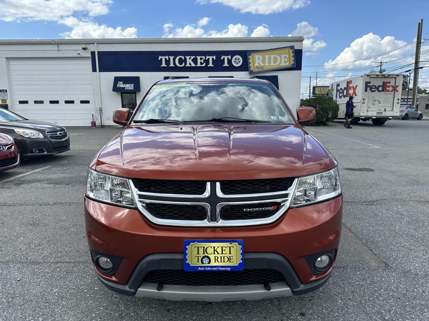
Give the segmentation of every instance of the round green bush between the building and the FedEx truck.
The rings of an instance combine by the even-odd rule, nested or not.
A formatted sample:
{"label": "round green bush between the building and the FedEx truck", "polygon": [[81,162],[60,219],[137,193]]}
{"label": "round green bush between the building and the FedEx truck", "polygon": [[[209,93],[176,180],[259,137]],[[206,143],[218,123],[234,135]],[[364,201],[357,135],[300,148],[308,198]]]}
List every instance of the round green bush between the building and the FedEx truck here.
{"label": "round green bush between the building and the FedEx truck", "polygon": [[315,96],[301,99],[299,106],[313,107],[316,110],[316,121],[309,126],[327,126],[327,122],[338,117],[339,105],[332,97]]}

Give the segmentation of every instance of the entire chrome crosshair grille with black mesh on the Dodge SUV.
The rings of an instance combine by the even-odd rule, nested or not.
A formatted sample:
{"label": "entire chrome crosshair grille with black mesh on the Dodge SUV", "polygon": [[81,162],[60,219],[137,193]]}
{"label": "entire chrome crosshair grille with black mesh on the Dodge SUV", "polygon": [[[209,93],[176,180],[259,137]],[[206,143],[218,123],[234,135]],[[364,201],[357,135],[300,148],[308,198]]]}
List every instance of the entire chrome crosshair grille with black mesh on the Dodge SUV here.
{"label": "entire chrome crosshair grille with black mesh on the Dodge SUV", "polygon": [[272,223],[289,208],[296,182],[129,180],[140,212],[151,222],[206,227]]}

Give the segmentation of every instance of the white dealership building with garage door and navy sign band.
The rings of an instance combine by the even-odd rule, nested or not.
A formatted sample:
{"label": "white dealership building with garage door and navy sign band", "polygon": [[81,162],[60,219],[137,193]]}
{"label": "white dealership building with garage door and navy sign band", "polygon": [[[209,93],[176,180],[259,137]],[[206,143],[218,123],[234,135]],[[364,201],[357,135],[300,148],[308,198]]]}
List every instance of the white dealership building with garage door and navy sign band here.
{"label": "white dealership building with garage door and navy sign band", "polygon": [[255,77],[299,107],[303,37],[0,40],[0,107],[61,126],[114,125],[158,80]]}

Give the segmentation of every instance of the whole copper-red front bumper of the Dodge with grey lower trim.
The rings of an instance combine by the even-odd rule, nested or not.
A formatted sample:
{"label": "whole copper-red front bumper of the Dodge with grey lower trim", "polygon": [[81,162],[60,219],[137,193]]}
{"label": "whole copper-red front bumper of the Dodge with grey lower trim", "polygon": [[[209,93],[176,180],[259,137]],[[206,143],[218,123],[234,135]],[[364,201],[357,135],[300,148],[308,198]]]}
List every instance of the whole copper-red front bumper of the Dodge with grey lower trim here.
{"label": "whole copper-red front bumper of the Dodge with grey lower trim", "polygon": [[[135,209],[85,197],[90,250],[122,258],[114,275],[103,273],[94,264],[100,281],[122,294],[167,300],[256,300],[314,291],[327,281],[333,264],[326,272],[314,275],[305,256],[338,249],[341,221],[342,195],[290,208],[271,224],[224,228],[158,226]],[[157,291],[156,284],[143,282],[150,270],[183,270],[184,240],[214,238],[242,239],[245,269],[278,270],[286,282],[270,283],[271,291],[266,291],[263,285],[231,285],[232,288],[164,285],[162,291]]]}

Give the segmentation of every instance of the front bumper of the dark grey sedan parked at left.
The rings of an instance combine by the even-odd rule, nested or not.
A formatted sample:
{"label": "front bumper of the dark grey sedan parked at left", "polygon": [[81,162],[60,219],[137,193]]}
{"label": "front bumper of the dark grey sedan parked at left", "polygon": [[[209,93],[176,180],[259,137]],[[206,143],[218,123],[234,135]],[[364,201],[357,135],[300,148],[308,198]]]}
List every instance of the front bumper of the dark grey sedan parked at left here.
{"label": "front bumper of the dark grey sedan parked at left", "polygon": [[[51,140],[48,137],[27,138],[18,136],[15,137],[15,144],[18,146],[21,158],[55,155],[70,150],[70,138],[68,136],[65,140]],[[33,149],[44,149],[45,152],[34,154],[31,153]]]}

